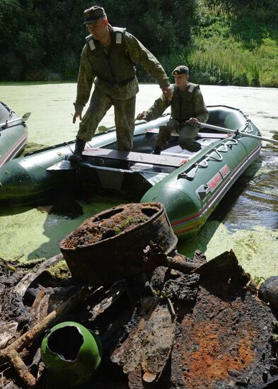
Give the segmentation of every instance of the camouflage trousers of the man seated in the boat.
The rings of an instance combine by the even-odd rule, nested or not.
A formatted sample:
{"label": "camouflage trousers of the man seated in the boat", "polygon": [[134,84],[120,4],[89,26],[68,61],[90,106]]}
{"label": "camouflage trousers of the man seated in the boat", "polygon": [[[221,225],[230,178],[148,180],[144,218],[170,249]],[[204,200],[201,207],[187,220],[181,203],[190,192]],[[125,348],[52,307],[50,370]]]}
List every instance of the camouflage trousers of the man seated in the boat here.
{"label": "camouflage trousers of the man seated in the boat", "polygon": [[156,137],[156,147],[163,149],[168,144],[168,141],[170,141],[171,135],[178,135],[178,144],[182,149],[198,151],[201,149],[200,144],[195,141],[198,131],[199,126],[195,124],[170,119],[165,125],[159,128],[159,133]]}

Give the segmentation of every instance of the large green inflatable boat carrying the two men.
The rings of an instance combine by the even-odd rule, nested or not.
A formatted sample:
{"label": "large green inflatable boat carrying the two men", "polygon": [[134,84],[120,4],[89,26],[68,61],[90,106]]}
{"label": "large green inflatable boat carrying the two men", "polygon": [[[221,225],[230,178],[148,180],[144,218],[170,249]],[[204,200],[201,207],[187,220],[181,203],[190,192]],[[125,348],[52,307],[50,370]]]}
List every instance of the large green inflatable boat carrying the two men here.
{"label": "large green inflatable boat carrying the two men", "polygon": [[137,122],[131,152],[117,150],[115,129],[110,129],[86,144],[76,166],[67,161],[74,141],[6,163],[0,169],[0,200],[37,204],[60,186],[131,192],[141,202],[163,203],[176,235],[195,233],[259,156],[263,139],[241,110],[222,105],[208,110],[197,153],[181,149],[177,137],[161,155],[152,153],[159,127],[170,118],[166,115]]}

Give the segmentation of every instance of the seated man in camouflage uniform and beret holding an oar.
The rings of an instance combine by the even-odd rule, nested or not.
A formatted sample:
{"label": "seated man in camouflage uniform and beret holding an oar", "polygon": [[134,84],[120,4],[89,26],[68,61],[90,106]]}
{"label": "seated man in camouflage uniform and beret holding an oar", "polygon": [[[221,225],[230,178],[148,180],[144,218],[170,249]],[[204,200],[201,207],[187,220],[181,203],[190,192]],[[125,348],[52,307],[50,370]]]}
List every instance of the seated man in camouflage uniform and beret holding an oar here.
{"label": "seated man in camouflage uniform and beret holding an oar", "polygon": [[154,120],[161,116],[166,108],[171,108],[169,122],[161,126],[156,138],[154,153],[160,154],[161,149],[170,140],[171,134],[179,135],[179,144],[182,149],[198,151],[201,146],[195,141],[199,126],[197,122],[207,122],[209,112],[204,104],[199,85],[188,82],[189,70],[187,66],[180,65],[173,70],[175,85],[173,98],[165,95],[158,98],[149,110],[137,115],[137,119]]}

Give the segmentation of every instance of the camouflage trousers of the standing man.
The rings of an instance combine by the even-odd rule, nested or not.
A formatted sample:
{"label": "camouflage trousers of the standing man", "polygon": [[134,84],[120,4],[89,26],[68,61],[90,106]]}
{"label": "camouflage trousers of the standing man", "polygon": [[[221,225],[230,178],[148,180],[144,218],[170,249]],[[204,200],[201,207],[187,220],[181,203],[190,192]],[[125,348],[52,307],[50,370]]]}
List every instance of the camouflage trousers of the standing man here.
{"label": "camouflage trousers of the standing man", "polygon": [[79,124],[77,138],[91,141],[100,120],[114,105],[117,149],[131,151],[133,146],[134,116],[136,96],[129,100],[116,100],[107,93],[95,88],[91,102]]}

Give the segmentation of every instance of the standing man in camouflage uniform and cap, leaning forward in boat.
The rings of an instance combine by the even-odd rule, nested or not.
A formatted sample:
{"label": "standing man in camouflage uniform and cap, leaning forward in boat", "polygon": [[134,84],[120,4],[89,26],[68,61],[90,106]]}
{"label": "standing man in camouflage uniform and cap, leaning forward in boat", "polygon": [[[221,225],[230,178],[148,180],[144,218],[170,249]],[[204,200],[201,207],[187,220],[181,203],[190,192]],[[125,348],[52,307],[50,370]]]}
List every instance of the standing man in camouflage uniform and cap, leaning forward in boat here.
{"label": "standing man in camouflage uniform and cap, leaning forward in boat", "polygon": [[[114,105],[117,148],[130,151],[133,146],[136,94],[139,91],[134,64],[141,64],[171,98],[168,77],[163,67],[139,40],[124,28],[115,28],[108,23],[105,11],[93,6],[84,11],[84,23],[91,35],[81,53],[77,97],[74,103],[73,122],[79,117],[81,123],[76,136],[71,162],[80,162],[86,141],[95,134],[98,123]],[[84,117],[82,110],[90,98],[91,103]]]}

